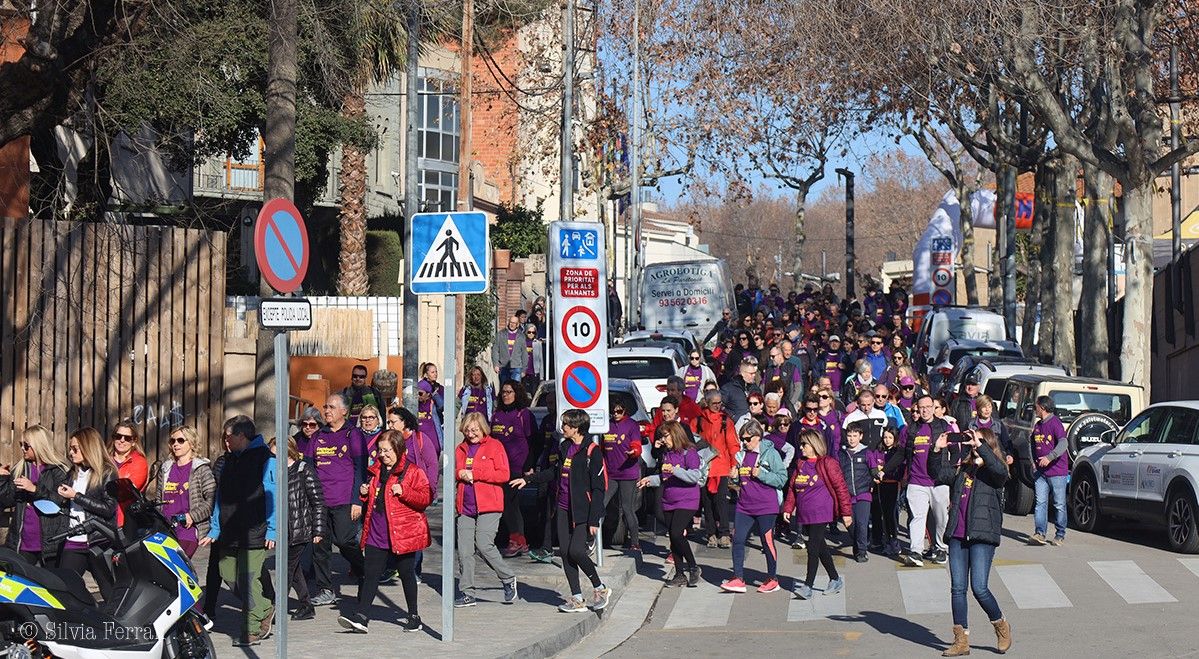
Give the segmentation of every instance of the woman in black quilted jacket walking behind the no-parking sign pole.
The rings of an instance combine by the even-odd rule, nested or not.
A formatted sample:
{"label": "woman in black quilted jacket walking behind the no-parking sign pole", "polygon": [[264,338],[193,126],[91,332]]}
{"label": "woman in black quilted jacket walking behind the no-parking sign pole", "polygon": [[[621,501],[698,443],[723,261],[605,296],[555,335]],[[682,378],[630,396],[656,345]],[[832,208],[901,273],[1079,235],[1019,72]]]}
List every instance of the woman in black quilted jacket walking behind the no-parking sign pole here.
{"label": "woman in black quilted jacket walking behind the no-parking sign pole", "polygon": [[[271,452],[277,453],[275,439]],[[317,479],[317,471],[306,462],[296,448],[295,437],[288,437],[288,575],[300,606],[291,613],[294,621],[317,617],[303,575],[301,557],[325,536],[325,495]]]}

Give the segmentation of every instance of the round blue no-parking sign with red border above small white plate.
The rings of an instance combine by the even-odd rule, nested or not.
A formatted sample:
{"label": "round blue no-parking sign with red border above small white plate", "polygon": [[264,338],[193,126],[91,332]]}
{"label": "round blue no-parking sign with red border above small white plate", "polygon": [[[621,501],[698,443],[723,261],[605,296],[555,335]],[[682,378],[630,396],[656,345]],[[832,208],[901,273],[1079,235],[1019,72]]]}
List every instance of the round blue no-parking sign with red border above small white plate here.
{"label": "round blue no-parking sign with red border above small white plate", "polygon": [[308,272],[308,229],[303,217],[287,199],[272,199],[254,223],[254,256],[258,270],[272,289],[294,292]]}

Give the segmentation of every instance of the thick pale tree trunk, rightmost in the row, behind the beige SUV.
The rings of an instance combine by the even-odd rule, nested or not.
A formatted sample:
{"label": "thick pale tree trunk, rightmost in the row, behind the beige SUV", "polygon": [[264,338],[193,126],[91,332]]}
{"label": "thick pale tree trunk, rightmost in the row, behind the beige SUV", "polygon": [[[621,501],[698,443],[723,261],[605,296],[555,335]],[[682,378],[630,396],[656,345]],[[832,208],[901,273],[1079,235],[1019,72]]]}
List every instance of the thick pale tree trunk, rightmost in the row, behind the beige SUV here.
{"label": "thick pale tree trunk, rightmost in the row, behind the beige SUV", "polygon": [[1120,341],[1123,382],[1145,387],[1150,398],[1150,320],[1153,315],[1153,180],[1123,188],[1125,297]]}

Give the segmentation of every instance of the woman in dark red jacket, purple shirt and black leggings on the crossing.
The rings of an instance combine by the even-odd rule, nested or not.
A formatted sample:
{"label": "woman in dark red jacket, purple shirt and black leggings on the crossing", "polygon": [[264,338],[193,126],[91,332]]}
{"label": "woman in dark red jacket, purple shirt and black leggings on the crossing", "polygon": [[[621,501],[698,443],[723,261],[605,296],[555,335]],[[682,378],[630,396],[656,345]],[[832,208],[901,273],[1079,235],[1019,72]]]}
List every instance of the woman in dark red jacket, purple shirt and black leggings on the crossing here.
{"label": "woman in dark red jacket, purple shirt and black leggings on the crossing", "polygon": [[795,585],[795,597],[812,599],[818,564],[823,564],[829,573],[826,595],[838,593],[845,586],[832,562],[832,551],[825,544],[825,531],[837,518],[849,528],[854,518],[850,515],[849,488],[845,486],[840,462],[829,455],[824,435],[817,430],[803,430],[800,433],[800,451],[803,459],[791,470],[783,501],[783,519],[791,521],[793,516],[797,518],[808,536],[808,574],[807,579]]}

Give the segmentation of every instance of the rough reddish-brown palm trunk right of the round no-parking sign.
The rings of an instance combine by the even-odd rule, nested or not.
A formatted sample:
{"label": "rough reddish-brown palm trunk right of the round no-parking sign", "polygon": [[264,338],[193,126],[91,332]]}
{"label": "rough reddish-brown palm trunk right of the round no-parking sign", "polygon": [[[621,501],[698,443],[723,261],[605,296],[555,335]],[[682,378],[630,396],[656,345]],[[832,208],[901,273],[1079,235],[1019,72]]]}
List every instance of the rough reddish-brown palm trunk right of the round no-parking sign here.
{"label": "rough reddish-brown palm trunk right of the round no-parking sign", "polygon": [[[342,99],[342,116],[351,121],[366,115],[366,97],[355,85]],[[367,155],[357,145],[342,145],[338,174],[342,208],[337,214],[342,248],[337,256],[338,295],[367,295]]]}

